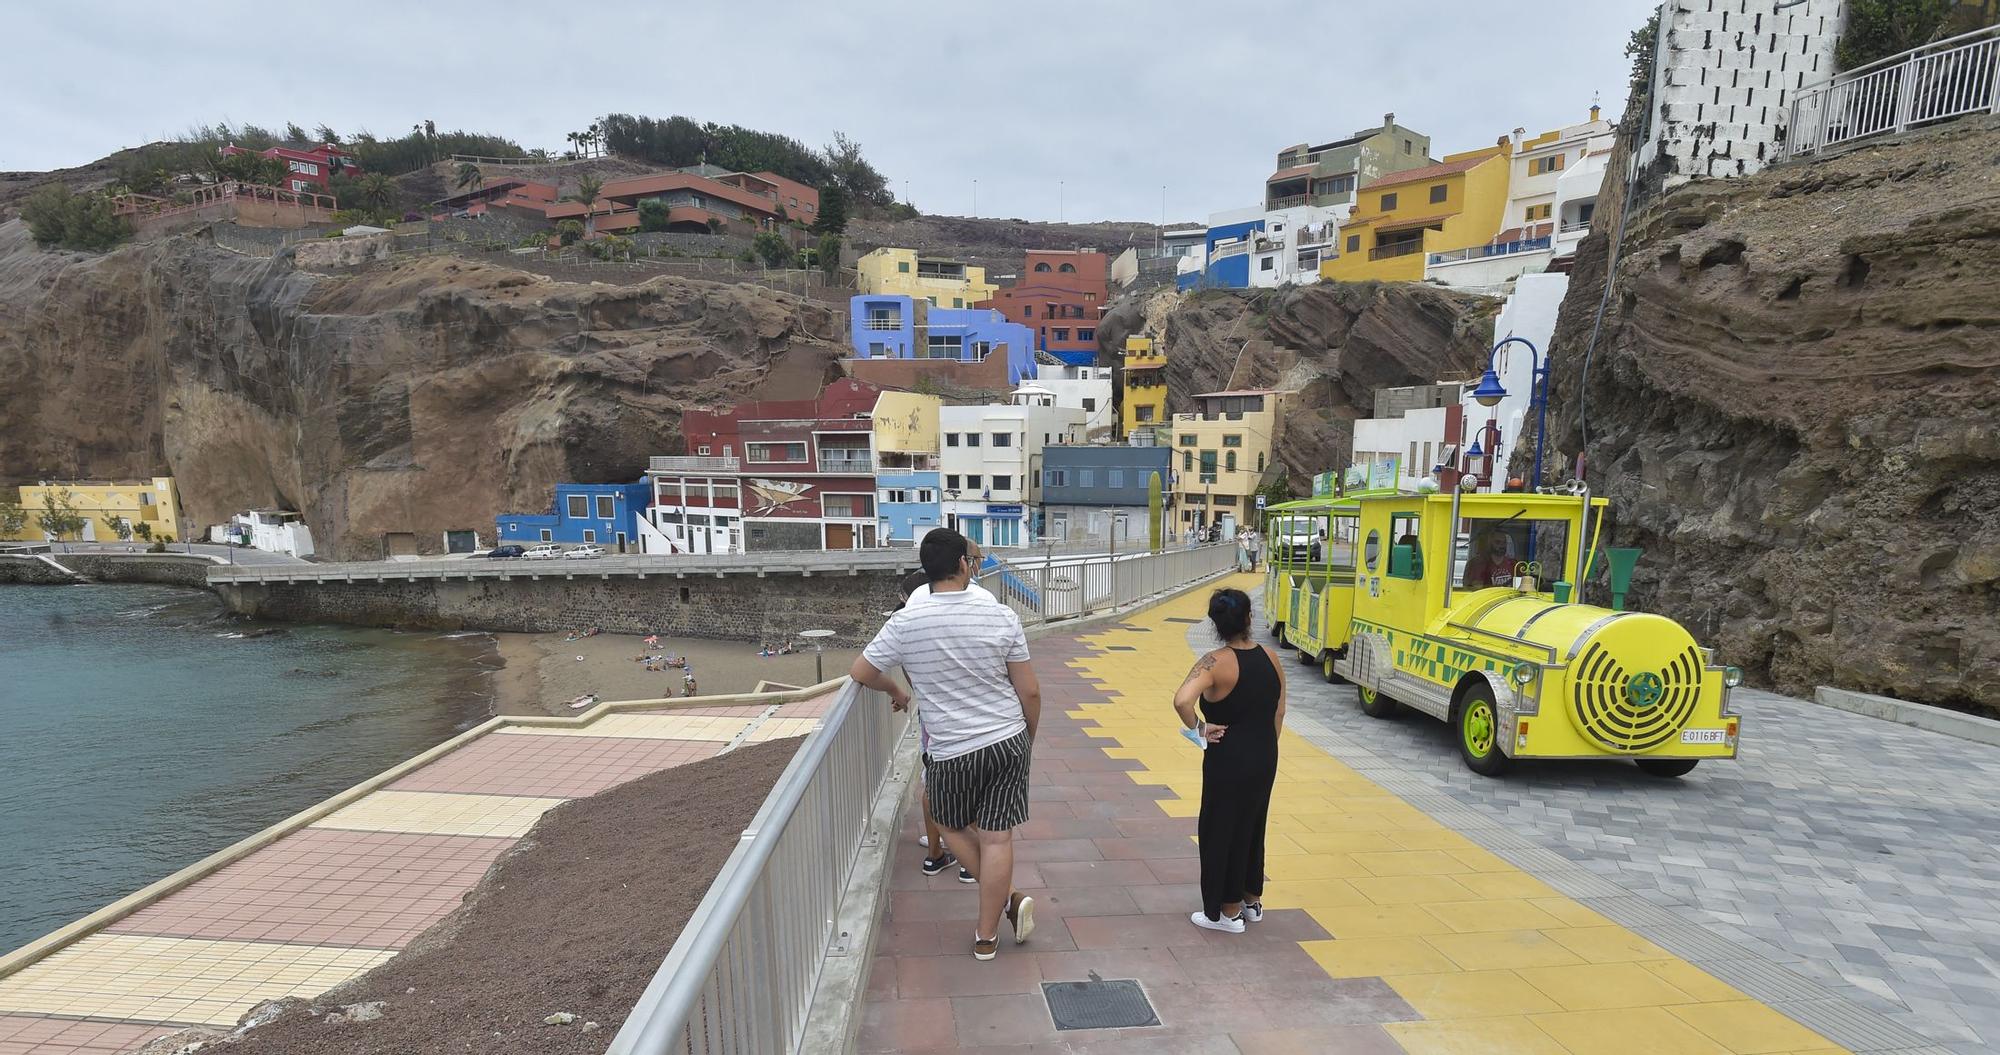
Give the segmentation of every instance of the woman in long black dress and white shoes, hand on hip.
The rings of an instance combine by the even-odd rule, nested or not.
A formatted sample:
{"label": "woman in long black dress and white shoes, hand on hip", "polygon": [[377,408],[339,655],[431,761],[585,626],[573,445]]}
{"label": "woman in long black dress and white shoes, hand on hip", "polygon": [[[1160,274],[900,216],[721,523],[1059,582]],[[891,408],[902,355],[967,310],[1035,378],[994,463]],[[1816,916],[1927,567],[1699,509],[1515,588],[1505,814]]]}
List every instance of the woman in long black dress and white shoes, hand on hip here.
{"label": "woman in long black dress and white shoes, hand on hip", "polygon": [[1278,779],[1284,673],[1268,647],[1250,641],[1250,595],[1242,589],[1216,589],[1208,621],[1222,647],[1196,659],[1174,693],[1182,725],[1206,745],[1196,825],[1202,911],[1188,919],[1210,931],[1242,933],[1244,921],[1264,919],[1264,823]]}

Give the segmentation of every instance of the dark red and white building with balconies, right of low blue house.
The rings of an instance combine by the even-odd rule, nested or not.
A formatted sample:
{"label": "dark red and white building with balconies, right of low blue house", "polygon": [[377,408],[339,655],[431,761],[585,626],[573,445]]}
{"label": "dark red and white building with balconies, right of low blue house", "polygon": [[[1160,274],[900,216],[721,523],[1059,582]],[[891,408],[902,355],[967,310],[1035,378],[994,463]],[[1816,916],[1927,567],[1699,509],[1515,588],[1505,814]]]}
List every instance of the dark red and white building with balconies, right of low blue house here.
{"label": "dark red and white building with balconies, right of low blue house", "polygon": [[876,545],[874,404],[852,378],[818,400],[764,400],[680,420],[686,456],[654,458],[648,551]]}

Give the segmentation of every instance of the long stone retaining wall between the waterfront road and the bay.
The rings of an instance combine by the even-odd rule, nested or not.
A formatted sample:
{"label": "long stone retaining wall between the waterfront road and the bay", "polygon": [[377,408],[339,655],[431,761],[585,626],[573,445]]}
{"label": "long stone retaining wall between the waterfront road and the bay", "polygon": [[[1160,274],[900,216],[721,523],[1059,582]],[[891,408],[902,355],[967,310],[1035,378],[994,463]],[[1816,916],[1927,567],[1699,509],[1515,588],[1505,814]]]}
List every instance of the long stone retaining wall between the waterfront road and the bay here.
{"label": "long stone retaining wall between the waterfront road and the bay", "polygon": [[314,581],[212,587],[242,615],[298,623],[552,633],[672,633],[784,641],[832,629],[832,643],[866,643],[902,601],[902,569],[854,575],[578,575],[474,581]]}

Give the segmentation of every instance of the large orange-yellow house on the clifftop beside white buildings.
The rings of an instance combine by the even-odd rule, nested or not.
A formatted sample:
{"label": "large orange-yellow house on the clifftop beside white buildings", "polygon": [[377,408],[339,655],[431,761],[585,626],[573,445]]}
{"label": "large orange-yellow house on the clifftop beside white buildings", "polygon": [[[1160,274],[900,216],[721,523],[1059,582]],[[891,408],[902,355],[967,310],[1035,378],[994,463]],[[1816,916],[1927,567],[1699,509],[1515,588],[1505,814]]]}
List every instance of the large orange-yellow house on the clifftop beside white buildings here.
{"label": "large orange-yellow house on the clifftop beside white buildings", "polygon": [[1330,282],[1420,282],[1428,254],[1486,246],[1508,204],[1510,142],[1392,172],[1354,196],[1340,256],[1320,262]]}

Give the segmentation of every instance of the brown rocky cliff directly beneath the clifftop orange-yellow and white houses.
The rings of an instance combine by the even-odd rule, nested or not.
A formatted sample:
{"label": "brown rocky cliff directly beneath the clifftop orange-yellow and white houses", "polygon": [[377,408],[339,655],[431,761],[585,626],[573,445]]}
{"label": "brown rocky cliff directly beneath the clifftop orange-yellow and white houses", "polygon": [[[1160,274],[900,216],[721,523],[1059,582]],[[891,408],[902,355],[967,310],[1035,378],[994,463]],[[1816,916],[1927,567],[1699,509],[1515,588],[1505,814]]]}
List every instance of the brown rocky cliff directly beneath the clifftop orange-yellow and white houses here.
{"label": "brown rocky cliff directly beneath the clifftop orange-yellow and white houses", "polygon": [[[1500,308],[1440,286],[1380,282],[1158,298],[1172,304],[1154,330],[1166,334],[1174,414],[1194,410],[1198,392],[1298,392],[1278,450],[1296,494],[1314,474],[1346,466],[1354,420],[1374,414],[1374,390],[1478,376]],[[1122,342],[1144,328],[1138,316],[1160,320],[1160,308],[1120,306],[1104,334]]]}

